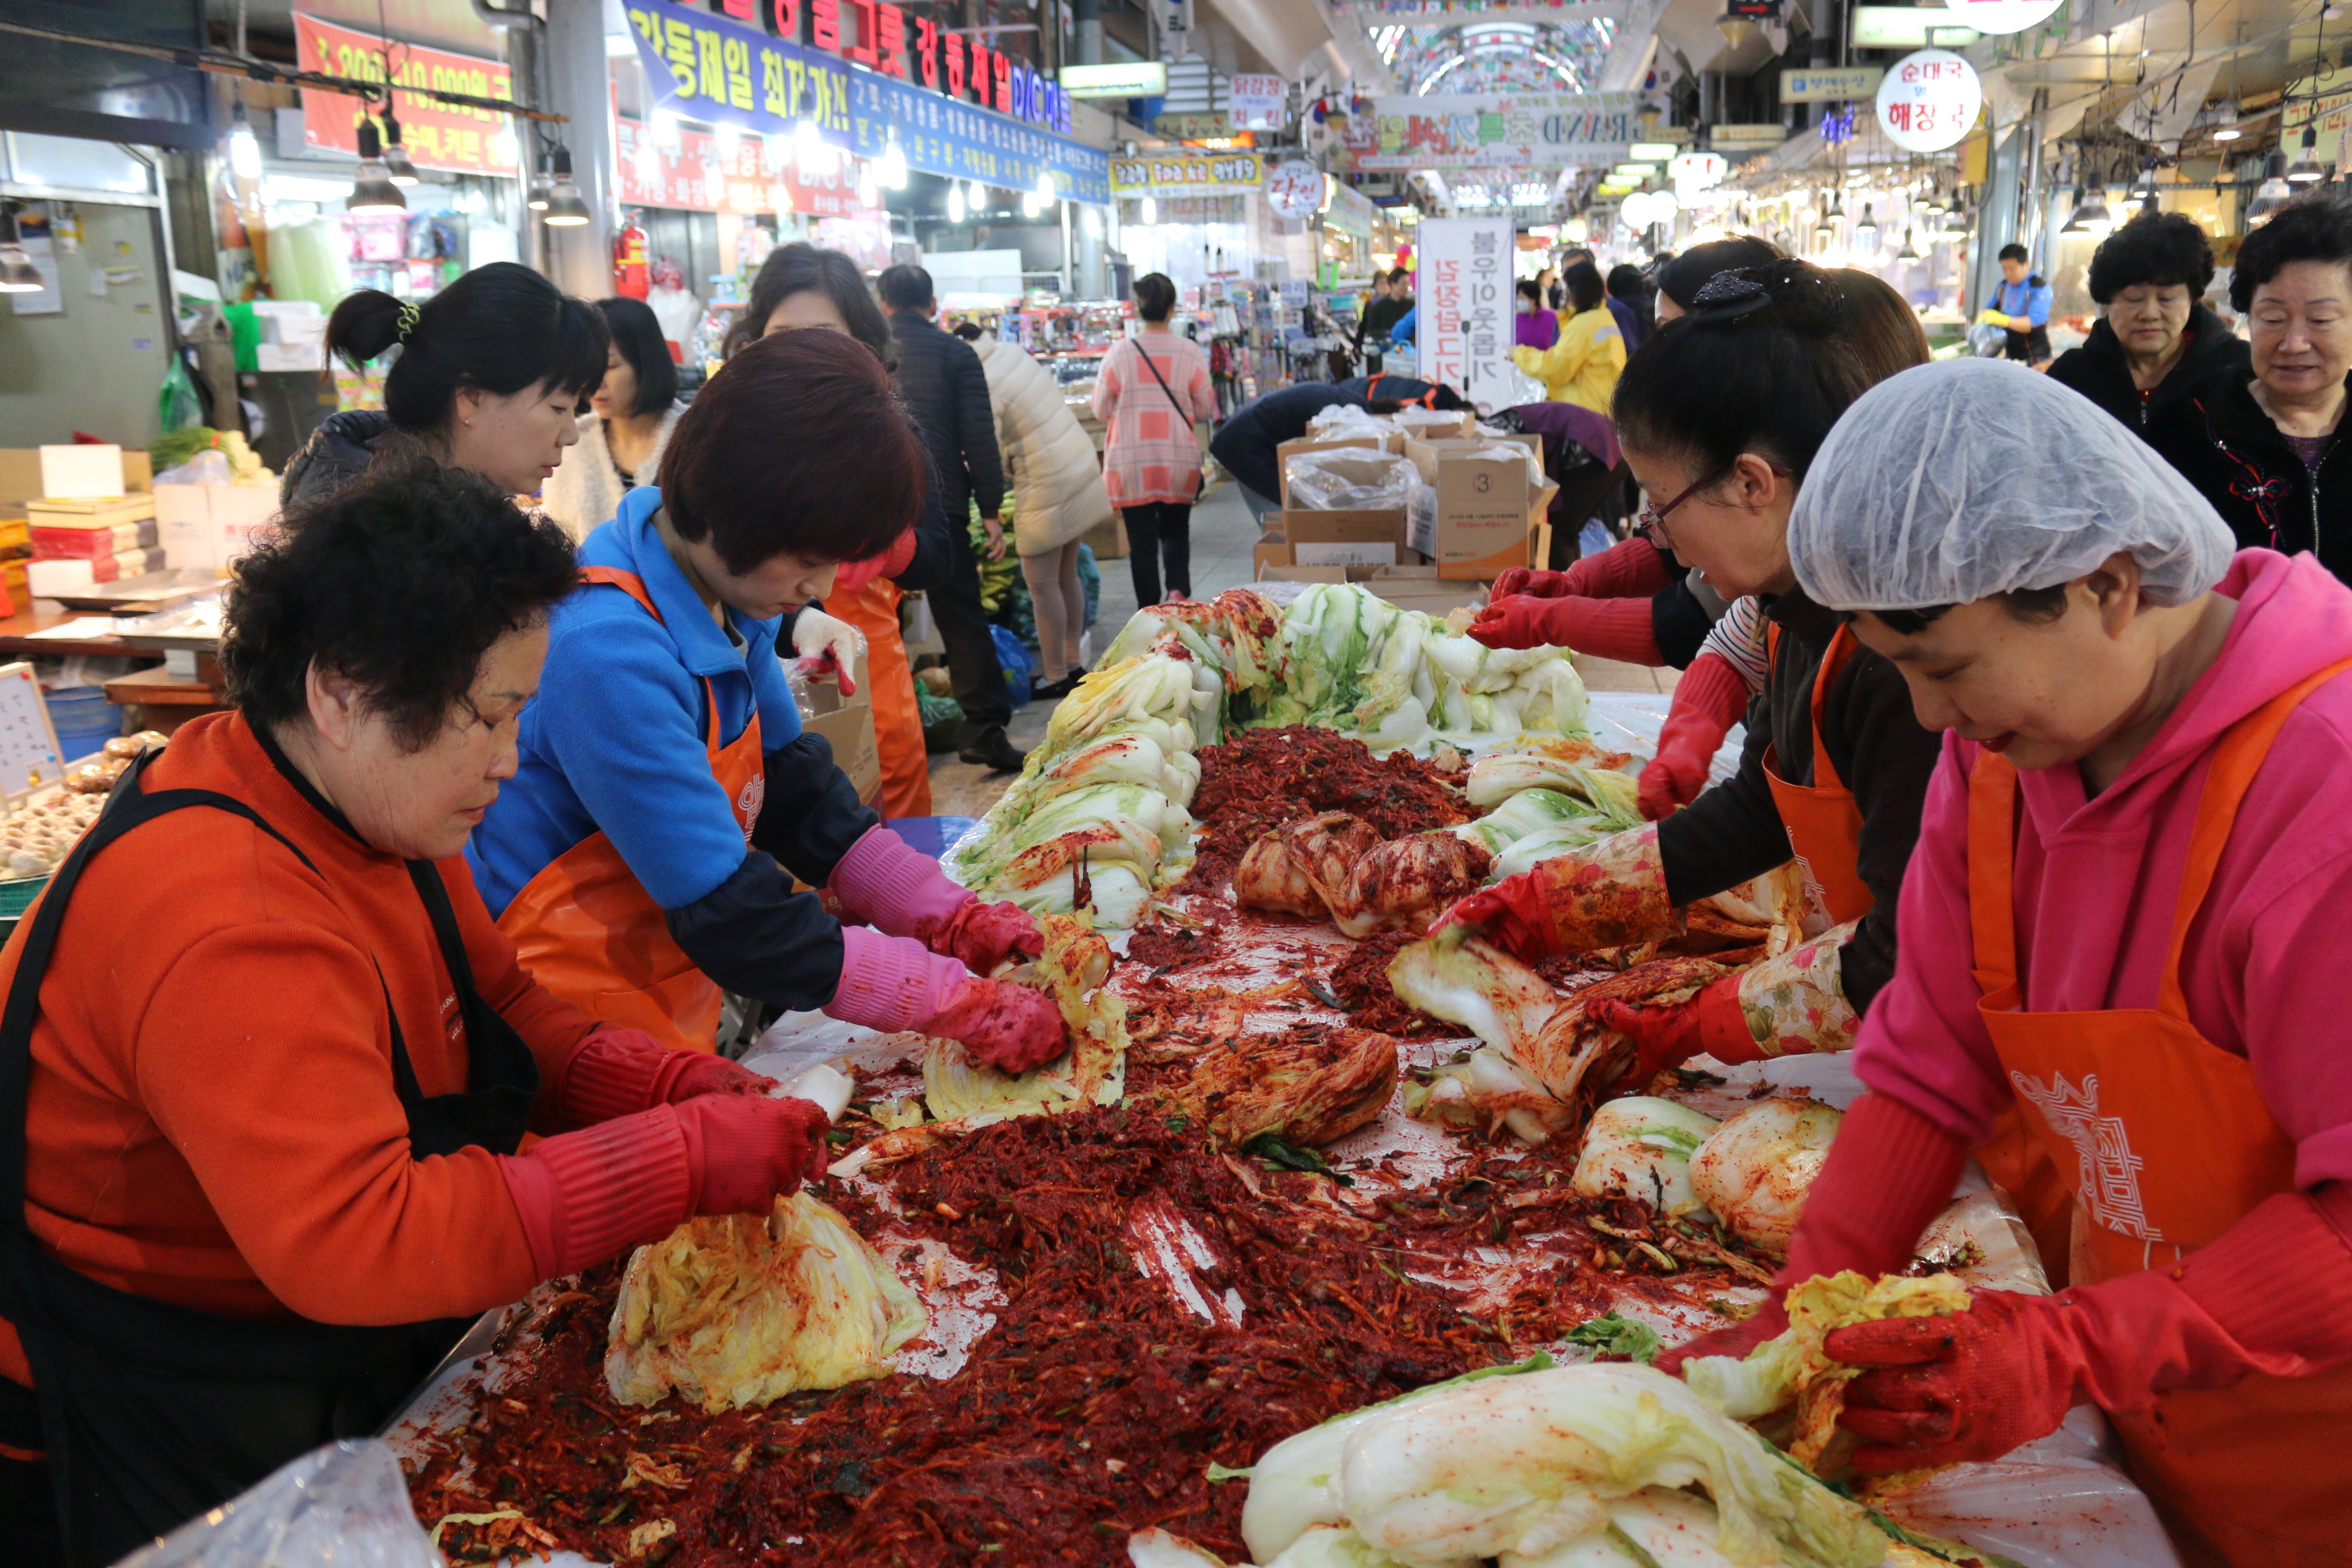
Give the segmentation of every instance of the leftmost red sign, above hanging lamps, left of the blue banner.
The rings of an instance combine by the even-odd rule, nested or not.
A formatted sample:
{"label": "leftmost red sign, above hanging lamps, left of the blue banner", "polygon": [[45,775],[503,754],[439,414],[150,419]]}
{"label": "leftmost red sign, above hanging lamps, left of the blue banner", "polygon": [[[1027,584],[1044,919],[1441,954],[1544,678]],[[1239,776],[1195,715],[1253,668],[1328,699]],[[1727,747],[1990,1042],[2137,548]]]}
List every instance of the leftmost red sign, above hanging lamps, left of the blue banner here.
{"label": "leftmost red sign, above hanging lamps, left of the blue banner", "polygon": [[[513,78],[494,59],[449,54],[421,45],[393,42],[386,61],[383,40],[374,33],[320,21],[294,12],[294,52],[303,71],[348,75],[369,82],[386,80],[390,63],[393,113],[400,118],[400,146],[419,169],[454,174],[513,174],[515,134],[508,118],[489,108],[456,108],[402,92],[428,87],[463,92],[475,99],[510,99]],[[301,136],[306,146],[360,155],[360,118],[367,108],[341,92],[301,89]]]}

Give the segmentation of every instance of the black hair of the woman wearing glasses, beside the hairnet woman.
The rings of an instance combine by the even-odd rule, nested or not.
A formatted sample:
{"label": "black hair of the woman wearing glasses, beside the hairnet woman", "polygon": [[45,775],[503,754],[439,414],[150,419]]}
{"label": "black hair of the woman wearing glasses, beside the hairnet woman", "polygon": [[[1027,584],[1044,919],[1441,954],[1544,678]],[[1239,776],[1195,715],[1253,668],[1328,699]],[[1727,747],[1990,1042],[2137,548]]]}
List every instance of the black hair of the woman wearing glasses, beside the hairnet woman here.
{"label": "black hair of the woman wearing glasses, beside the hairnet woman", "polygon": [[1830,425],[1875,381],[1853,348],[1844,292],[1797,259],[1717,277],[1748,277],[1764,299],[1750,289],[1644,339],[1616,383],[1618,442],[1691,473],[1769,454],[1802,480]]}

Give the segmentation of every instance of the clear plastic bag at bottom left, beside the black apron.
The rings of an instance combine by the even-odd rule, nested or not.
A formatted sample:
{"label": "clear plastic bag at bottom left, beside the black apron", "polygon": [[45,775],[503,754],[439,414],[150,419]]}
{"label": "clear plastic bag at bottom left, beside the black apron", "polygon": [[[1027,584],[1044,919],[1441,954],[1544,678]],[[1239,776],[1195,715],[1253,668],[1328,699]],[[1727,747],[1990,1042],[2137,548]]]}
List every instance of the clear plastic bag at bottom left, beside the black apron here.
{"label": "clear plastic bag at bottom left, beside the black apron", "polygon": [[329,1443],[115,1568],[442,1568],[376,1439]]}

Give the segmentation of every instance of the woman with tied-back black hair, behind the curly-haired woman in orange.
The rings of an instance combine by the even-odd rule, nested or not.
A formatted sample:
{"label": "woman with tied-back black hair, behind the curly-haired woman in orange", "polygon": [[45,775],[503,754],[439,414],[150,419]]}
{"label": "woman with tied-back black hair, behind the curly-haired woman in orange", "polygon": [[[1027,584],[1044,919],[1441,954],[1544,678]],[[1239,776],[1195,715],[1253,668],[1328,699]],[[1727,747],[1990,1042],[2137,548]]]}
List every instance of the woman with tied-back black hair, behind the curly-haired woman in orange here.
{"label": "woman with tied-back black hair, behind the curly-haired woman in orange", "polygon": [[494,261],[433,299],[353,289],[327,317],[327,353],[365,369],[393,348],[383,409],[329,414],[278,480],[285,505],[318,501],[379,456],[470,468],[534,496],[579,440],[579,402],[604,376],[604,315],[527,266]]}

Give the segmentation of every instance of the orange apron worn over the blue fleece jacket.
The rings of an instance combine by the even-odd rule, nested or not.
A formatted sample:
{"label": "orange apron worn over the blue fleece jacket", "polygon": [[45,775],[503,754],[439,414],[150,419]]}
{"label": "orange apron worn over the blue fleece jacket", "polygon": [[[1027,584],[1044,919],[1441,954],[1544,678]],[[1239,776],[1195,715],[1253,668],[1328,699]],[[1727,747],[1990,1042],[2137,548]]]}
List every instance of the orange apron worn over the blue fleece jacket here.
{"label": "orange apron worn over the blue fleece jacket", "polygon": [[[633,571],[581,567],[581,581],[612,583],[661,621],[644,578]],[[767,795],[760,710],[753,708],[750,724],[731,745],[720,745],[720,703],[708,679],[703,708],[710,715],[710,776],[727,790],[750,844]],[[644,1030],[673,1051],[715,1048],[720,987],[670,938],[661,905],[602,830],[539,867],[506,905],[499,929],[515,940],[532,978],[590,1018]]]}

